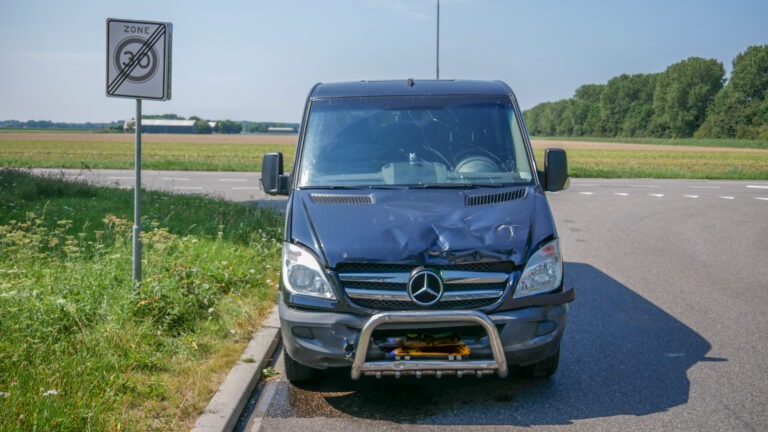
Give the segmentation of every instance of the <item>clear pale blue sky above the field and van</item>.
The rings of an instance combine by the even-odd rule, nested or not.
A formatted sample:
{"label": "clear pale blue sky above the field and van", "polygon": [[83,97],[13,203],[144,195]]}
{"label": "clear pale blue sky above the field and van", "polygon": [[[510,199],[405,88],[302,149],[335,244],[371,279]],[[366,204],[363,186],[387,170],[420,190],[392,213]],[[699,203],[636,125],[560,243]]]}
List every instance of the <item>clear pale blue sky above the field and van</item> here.
{"label": "clear pale blue sky above the field and van", "polygon": [[[0,0],[0,120],[108,122],[106,19],[173,23],[172,99],[145,114],[298,122],[317,82],[435,77],[436,0]],[[582,84],[731,61],[766,0],[442,0],[440,78],[502,80],[523,109]]]}

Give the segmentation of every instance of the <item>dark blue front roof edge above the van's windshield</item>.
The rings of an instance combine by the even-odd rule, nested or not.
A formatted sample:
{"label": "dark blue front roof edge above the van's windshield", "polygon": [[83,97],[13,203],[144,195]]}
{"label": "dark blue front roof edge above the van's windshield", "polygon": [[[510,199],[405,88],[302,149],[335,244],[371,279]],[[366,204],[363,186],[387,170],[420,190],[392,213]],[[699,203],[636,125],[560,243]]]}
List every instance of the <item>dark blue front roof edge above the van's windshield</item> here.
{"label": "dark blue front roof edge above the van's windshield", "polygon": [[392,80],[318,83],[310,98],[357,96],[429,96],[429,95],[509,95],[511,90],[501,81],[472,80]]}

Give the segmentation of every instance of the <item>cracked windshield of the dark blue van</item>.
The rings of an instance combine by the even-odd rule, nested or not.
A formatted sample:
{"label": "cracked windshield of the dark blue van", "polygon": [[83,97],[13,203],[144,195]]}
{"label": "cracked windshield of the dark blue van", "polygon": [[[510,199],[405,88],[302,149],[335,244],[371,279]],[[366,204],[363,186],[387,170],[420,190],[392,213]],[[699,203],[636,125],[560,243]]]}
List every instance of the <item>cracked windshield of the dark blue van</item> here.
{"label": "cracked windshield of the dark blue van", "polygon": [[509,97],[392,96],[312,102],[298,186],[529,184]]}

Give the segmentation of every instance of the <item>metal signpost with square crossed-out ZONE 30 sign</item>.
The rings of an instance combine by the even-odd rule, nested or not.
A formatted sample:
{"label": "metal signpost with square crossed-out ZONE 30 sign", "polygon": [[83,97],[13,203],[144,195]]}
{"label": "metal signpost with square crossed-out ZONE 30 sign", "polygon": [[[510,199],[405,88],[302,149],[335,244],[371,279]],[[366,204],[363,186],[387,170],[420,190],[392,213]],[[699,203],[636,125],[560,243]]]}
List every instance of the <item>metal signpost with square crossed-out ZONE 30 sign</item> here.
{"label": "metal signpost with square crossed-out ZONE 30 sign", "polygon": [[171,98],[171,30],[171,23],[107,19],[107,96],[136,99],[135,282],[141,282],[141,100]]}

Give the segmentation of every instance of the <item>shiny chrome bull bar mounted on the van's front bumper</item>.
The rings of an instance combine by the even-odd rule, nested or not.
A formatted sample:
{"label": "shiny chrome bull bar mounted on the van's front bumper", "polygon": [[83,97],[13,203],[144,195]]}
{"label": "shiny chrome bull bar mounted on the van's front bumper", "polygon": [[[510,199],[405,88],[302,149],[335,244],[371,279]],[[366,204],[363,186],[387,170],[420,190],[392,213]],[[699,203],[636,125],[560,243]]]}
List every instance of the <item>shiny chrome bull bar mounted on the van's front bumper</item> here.
{"label": "shiny chrome bull bar mounted on the van's front bumper", "polygon": [[[366,362],[365,356],[371,343],[373,331],[382,324],[399,323],[435,323],[435,322],[469,322],[480,324],[488,335],[488,342],[493,353],[493,360],[394,360]],[[478,311],[414,311],[414,312],[381,312],[372,316],[360,331],[360,338],[352,362],[351,377],[360,379],[361,375],[442,375],[475,374],[496,372],[499,378],[507,376],[507,360],[504,357],[504,347],[501,338],[488,315]]]}

